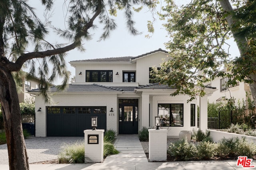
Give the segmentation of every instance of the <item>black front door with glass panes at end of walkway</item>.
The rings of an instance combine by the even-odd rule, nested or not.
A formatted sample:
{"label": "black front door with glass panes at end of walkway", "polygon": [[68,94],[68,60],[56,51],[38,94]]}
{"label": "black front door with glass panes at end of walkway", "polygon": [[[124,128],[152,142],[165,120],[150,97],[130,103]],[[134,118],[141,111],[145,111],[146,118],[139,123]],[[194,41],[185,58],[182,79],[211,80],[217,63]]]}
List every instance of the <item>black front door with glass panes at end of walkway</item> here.
{"label": "black front door with glass panes at end of walkway", "polygon": [[138,99],[119,101],[119,134],[138,134]]}

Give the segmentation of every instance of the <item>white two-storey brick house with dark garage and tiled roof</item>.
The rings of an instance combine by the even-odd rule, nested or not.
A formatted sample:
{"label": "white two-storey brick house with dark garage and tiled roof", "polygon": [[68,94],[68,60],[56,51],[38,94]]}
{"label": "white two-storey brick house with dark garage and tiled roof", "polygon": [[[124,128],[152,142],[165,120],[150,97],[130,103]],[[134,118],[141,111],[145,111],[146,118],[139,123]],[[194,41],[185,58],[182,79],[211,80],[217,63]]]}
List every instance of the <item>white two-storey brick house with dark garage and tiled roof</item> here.
{"label": "white two-storey brick house with dark garage and tiled roof", "polygon": [[[137,134],[142,127],[161,128],[169,137],[197,127],[197,101],[189,96],[172,97],[176,89],[150,80],[152,67],[168,59],[162,49],[137,57],[116,57],[70,61],[76,68],[76,80],[57,92],[50,89],[55,104],[45,104],[39,90],[36,95],[36,136],[83,136],[92,129],[91,117],[98,117],[97,129],[113,129],[117,134]],[[214,88],[206,88],[207,93]],[[207,129],[207,95],[200,98],[200,128]],[[37,111],[38,109],[41,111]]]}

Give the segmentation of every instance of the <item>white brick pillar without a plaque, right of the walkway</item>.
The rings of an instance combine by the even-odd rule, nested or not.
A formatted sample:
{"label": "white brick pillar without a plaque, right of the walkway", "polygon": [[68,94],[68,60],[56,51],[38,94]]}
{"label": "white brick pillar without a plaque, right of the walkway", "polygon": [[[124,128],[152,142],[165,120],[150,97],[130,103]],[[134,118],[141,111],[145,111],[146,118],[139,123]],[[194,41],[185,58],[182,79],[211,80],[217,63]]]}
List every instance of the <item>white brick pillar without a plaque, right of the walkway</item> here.
{"label": "white brick pillar without a plaque, right of the walkway", "polygon": [[166,161],[167,159],[167,129],[148,129],[149,160]]}

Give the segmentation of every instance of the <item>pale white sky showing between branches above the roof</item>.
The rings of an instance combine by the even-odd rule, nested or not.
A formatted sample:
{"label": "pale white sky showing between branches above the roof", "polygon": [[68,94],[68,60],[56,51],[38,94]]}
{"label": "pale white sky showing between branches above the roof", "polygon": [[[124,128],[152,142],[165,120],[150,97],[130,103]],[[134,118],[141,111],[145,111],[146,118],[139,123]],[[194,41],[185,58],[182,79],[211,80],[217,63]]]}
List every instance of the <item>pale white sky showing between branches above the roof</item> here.
{"label": "pale white sky showing between branches above the roof", "polygon": [[[186,0],[183,0],[182,2],[186,2]],[[42,14],[44,13],[44,8],[42,8],[42,5],[37,0],[30,0],[29,3],[32,7],[36,8],[36,13],[40,18],[43,19]],[[65,14],[63,12],[63,1],[56,0],[55,4],[54,13],[51,18],[52,25],[64,29]],[[72,72],[72,76],[75,75],[75,68],[70,66],[68,63],[70,61],[106,57],[135,57],[159,48],[166,50],[164,43],[166,43],[169,38],[166,37],[167,32],[162,26],[163,21],[160,21],[157,18],[157,21],[154,24],[155,32],[150,39],[147,39],[144,36],[148,34],[147,21],[152,20],[152,15],[150,12],[147,12],[147,9],[145,8],[142,9],[140,13],[134,12],[134,20],[136,21],[135,27],[138,29],[138,31],[142,32],[141,35],[134,36],[128,32],[123,12],[118,12],[118,16],[115,18],[118,28],[112,31],[110,37],[105,41],[98,41],[101,33],[103,32],[102,29],[97,28],[90,30],[90,33],[93,33],[94,35],[91,40],[83,42],[86,51],[80,52],[77,49],[74,49],[67,53],[66,62],[68,70]],[[97,21],[95,24],[100,27],[100,23]],[[48,37],[46,37],[46,40],[53,44],[63,43],[64,41],[58,37],[58,35],[55,35],[55,33],[51,33]],[[231,40],[230,43],[232,44],[230,49],[231,55],[238,56],[239,51],[236,45],[233,43],[233,40]],[[54,84],[60,83],[61,80],[54,82]]]}

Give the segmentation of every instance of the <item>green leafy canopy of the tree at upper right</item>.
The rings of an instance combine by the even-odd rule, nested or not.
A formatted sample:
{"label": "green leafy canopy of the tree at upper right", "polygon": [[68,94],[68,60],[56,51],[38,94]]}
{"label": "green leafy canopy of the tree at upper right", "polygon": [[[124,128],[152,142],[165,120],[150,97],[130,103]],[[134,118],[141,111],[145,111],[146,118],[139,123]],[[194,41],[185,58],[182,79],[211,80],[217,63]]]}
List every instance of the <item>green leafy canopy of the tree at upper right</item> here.
{"label": "green leafy canopy of the tree at upper right", "polygon": [[[250,83],[255,96],[256,1],[192,0],[182,6],[174,0],[165,2],[160,17],[166,20],[164,27],[170,41],[165,45],[170,59],[162,63],[163,69],[154,72],[161,83],[177,88],[172,95],[189,94],[192,100],[197,94],[205,95],[206,82],[228,77],[228,85],[236,81]],[[235,58],[226,48],[230,37],[234,37],[240,51]],[[170,72],[165,71],[167,68]]]}

